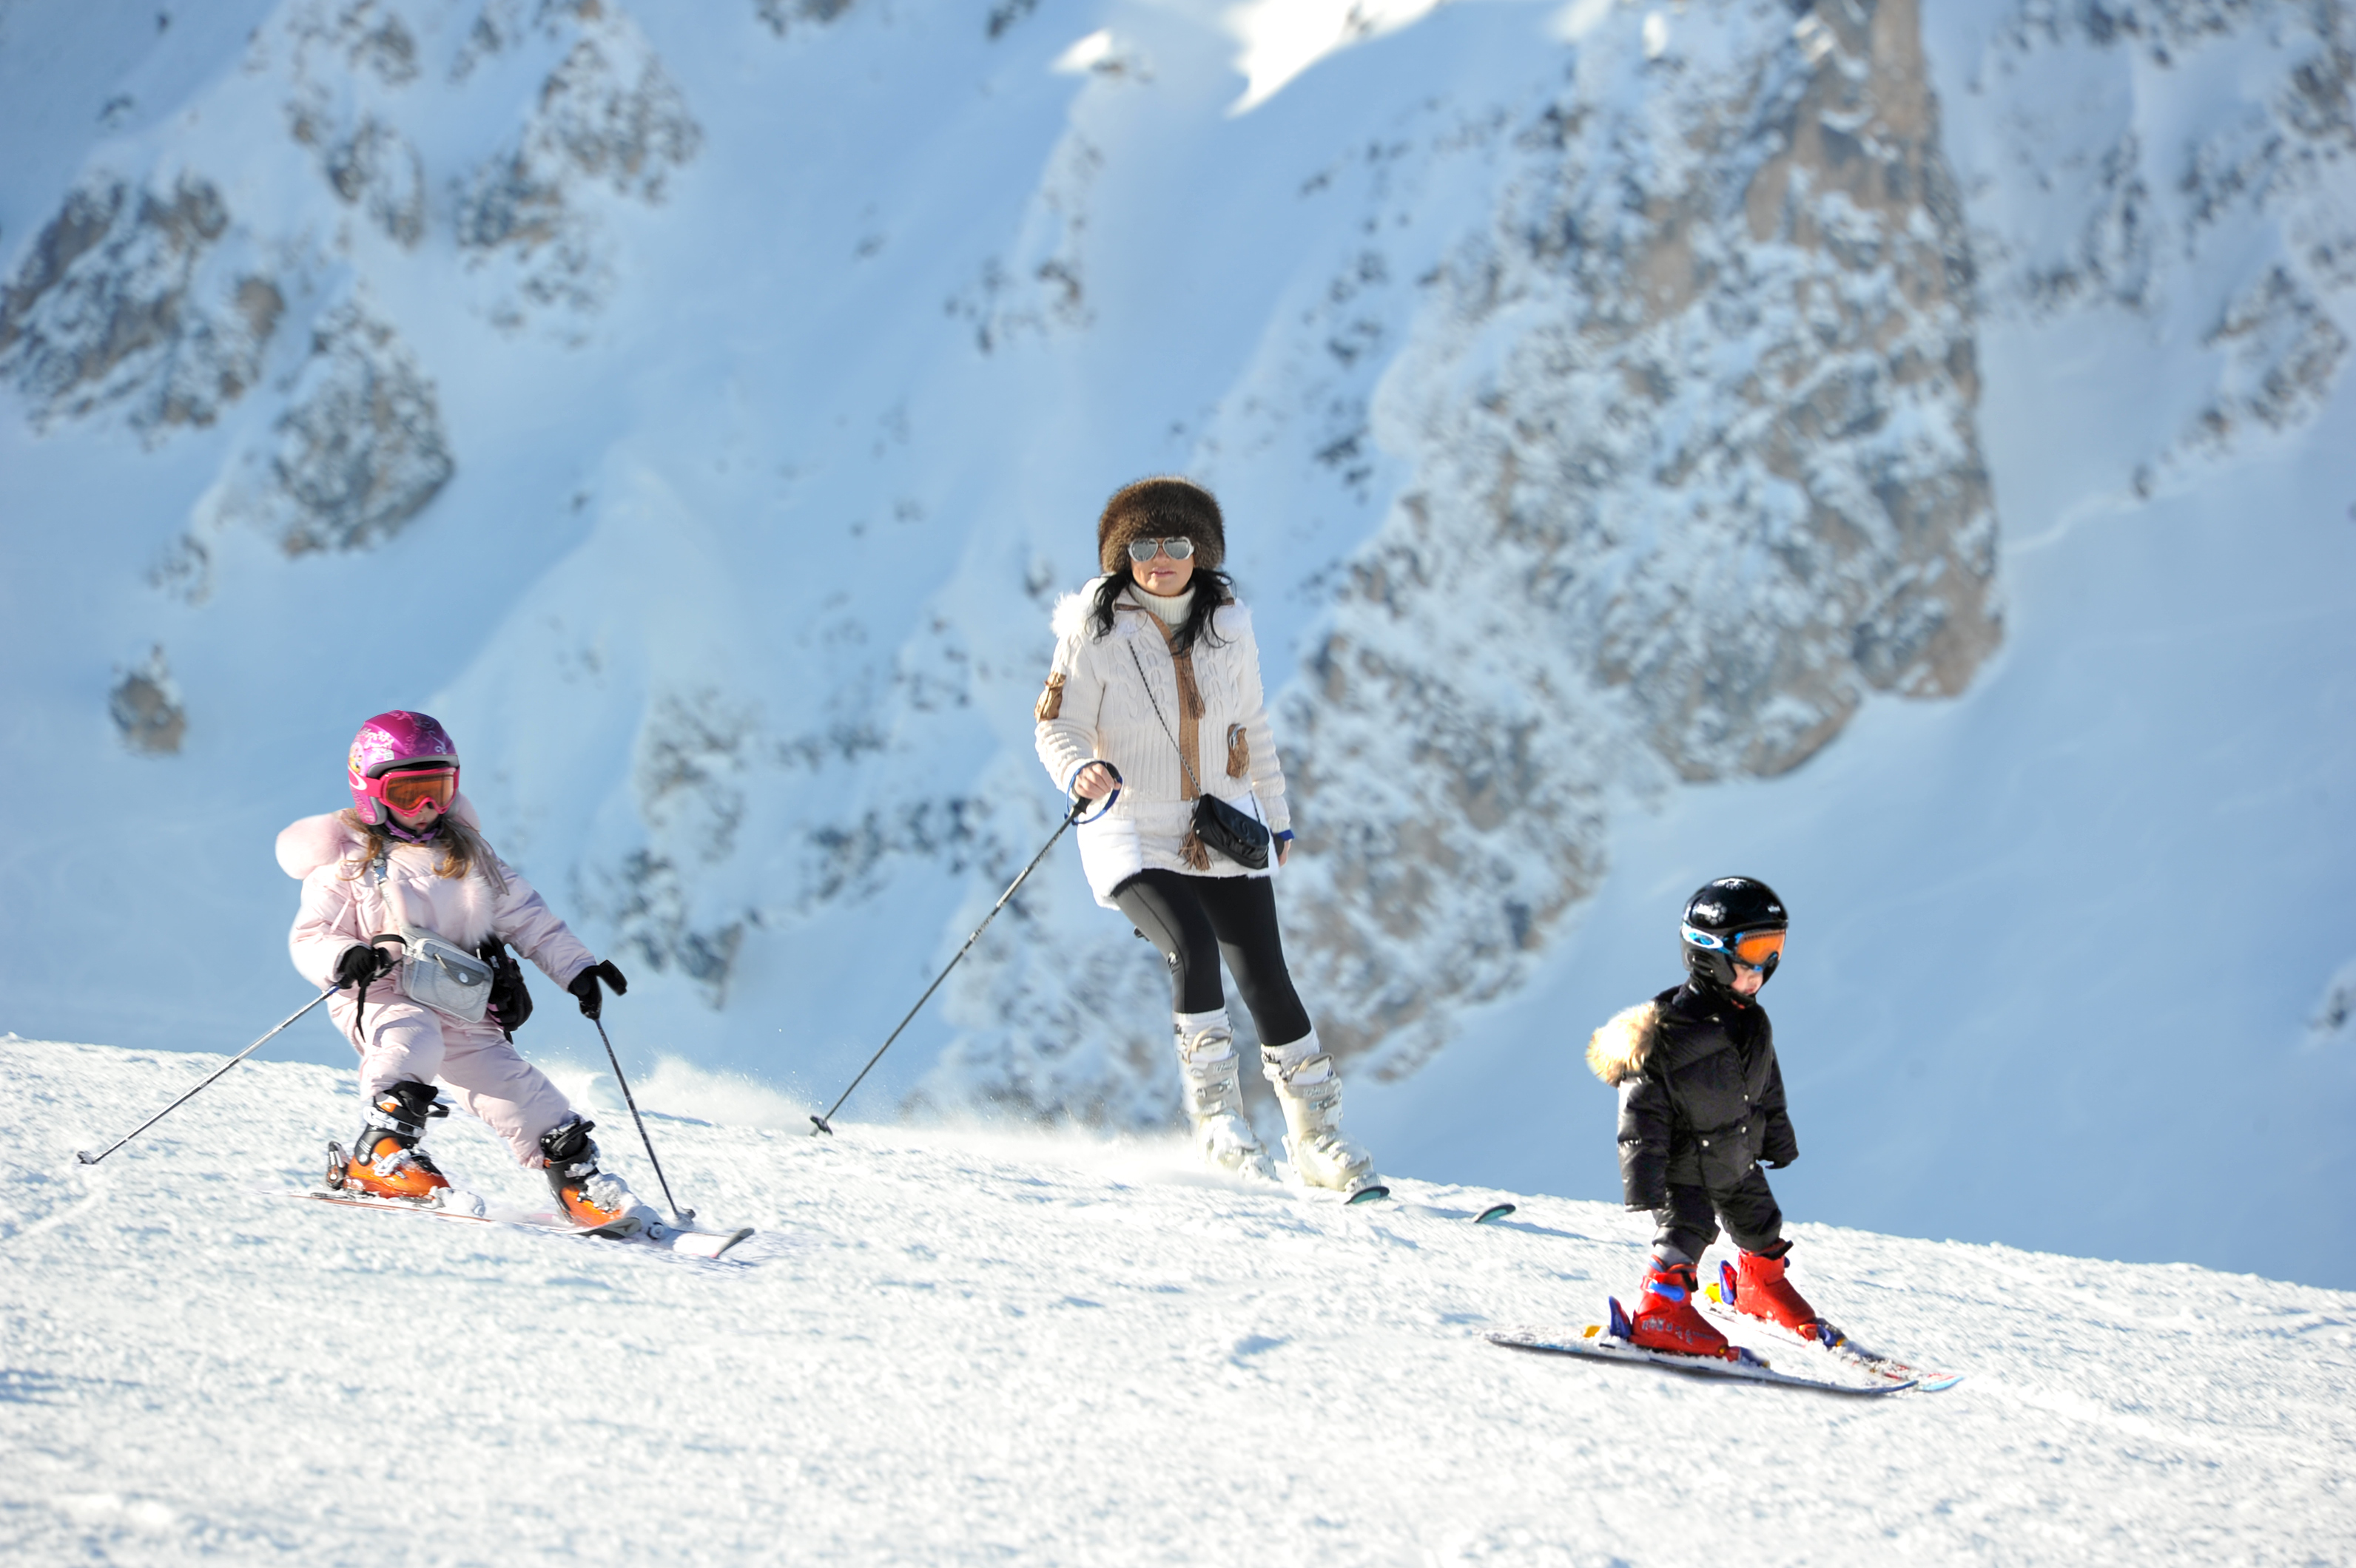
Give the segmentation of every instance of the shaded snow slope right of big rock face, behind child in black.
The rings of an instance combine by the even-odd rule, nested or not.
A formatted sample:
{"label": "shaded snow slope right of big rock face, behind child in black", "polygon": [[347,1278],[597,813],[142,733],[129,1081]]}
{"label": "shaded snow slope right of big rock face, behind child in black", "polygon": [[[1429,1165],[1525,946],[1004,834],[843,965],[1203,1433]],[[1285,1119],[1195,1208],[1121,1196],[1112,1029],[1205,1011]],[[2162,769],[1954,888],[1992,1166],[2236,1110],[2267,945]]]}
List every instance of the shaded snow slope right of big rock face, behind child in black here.
{"label": "shaded snow slope right of big rock face, behind child in black", "polygon": [[[2356,195],[2347,144],[2285,108],[2316,16],[2344,26],[2262,9],[2172,66],[2125,28],[2026,49],[1988,14],[1930,28],[1986,259],[2005,647],[1953,704],[1868,706],[1791,777],[1623,826],[1546,975],[1359,1095],[1388,1161],[1614,1191],[1612,1095],[1576,1045],[1670,982],[1677,899],[1741,866],[1798,918],[1767,994],[1802,1144],[1788,1212],[2356,1283],[2349,937],[2323,913],[2356,866],[2356,396],[2340,377],[2290,431],[2193,440],[2245,374],[2210,327],[2252,283],[2349,301],[2314,271]],[[2193,224],[2179,134],[2266,118],[2278,174]],[[2057,191],[2123,137],[2149,160],[2118,174],[2146,202],[2142,301],[2031,287],[2094,275],[2087,210]]]}

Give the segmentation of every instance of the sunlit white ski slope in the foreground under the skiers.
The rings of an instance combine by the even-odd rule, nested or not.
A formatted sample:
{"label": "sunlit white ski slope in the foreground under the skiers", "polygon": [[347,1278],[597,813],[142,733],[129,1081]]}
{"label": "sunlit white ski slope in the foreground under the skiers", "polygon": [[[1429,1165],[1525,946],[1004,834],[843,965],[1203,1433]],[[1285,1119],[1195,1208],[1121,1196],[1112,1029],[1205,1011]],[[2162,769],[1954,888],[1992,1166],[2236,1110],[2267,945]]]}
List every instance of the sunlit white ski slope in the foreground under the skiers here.
{"label": "sunlit white ski slope in the foreground under the skiers", "polygon": [[[2323,1563],[2356,1295],[1798,1227],[1795,1278],[1967,1373],[1845,1401],[1491,1349],[1626,1293],[1602,1203],[1338,1208],[1176,1142],[641,1104],[740,1262],[271,1196],[349,1081],[0,1038],[12,1563]],[[591,1088],[580,1081],[568,1088]],[[610,1099],[610,1083],[591,1088]],[[608,1149],[653,1191],[624,1118]],[[528,1201],[455,1116],[443,1163]],[[1430,1212],[1425,1212],[1430,1210]]]}

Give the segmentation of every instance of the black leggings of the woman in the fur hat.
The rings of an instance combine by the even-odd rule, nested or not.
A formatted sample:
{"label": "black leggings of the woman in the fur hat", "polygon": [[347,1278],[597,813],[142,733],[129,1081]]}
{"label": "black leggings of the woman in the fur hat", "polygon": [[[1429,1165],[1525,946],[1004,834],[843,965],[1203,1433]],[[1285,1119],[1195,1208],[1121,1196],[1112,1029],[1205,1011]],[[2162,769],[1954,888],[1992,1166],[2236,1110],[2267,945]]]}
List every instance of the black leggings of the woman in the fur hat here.
{"label": "black leggings of the woman in the fur hat", "polygon": [[1112,890],[1129,923],[1171,965],[1171,1012],[1211,1012],[1227,1005],[1218,961],[1227,958],[1235,989],[1251,1008],[1263,1045],[1308,1036],[1310,1015],[1284,970],[1277,935],[1277,885],[1265,876],[1180,876],[1138,871]]}

